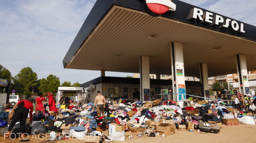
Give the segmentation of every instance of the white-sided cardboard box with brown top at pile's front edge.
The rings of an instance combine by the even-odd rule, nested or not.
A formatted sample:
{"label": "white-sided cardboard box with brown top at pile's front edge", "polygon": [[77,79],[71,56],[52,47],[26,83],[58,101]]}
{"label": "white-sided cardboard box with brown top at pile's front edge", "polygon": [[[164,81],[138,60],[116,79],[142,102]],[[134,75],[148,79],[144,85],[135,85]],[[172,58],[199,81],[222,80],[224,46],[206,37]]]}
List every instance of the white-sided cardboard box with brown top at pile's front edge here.
{"label": "white-sided cardboard box with brown top at pile's front edge", "polygon": [[109,136],[112,136],[112,137],[124,136],[124,130],[125,130],[124,125],[110,123],[108,128],[109,128],[109,131],[108,131]]}

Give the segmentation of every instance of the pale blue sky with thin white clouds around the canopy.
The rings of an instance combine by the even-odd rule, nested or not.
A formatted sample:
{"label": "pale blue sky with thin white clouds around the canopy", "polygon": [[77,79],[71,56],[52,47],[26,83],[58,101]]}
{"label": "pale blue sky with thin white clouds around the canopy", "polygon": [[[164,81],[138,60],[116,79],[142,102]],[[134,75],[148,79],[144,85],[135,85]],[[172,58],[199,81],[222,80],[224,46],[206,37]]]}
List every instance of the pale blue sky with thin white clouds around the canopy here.
{"label": "pale blue sky with thin white clouds around the canopy", "polygon": [[[253,0],[182,0],[256,25]],[[96,0],[1,0],[0,64],[15,76],[31,67],[38,79],[53,74],[60,82],[84,83],[100,71],[64,69],[62,60]],[[132,73],[106,72],[125,77]]]}

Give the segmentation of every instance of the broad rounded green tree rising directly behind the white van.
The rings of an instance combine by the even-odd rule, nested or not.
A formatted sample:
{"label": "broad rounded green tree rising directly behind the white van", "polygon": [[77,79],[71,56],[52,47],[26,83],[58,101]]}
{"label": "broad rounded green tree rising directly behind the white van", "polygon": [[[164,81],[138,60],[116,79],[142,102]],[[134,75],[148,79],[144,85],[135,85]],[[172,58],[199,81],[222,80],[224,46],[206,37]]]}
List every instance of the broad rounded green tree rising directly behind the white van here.
{"label": "broad rounded green tree rising directly behind the white van", "polygon": [[17,93],[22,93],[26,90],[32,91],[37,85],[37,74],[33,72],[30,67],[22,68],[20,72],[12,78],[13,89],[16,89]]}

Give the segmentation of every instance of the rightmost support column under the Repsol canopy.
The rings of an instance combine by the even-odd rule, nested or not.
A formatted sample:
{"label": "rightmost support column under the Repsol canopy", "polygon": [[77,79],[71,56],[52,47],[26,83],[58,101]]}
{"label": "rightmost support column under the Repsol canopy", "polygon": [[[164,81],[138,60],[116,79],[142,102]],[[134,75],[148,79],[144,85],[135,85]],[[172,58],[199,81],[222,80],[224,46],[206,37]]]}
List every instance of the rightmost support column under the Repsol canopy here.
{"label": "rightmost support column under the Repsol canopy", "polygon": [[236,55],[236,70],[238,75],[239,92],[245,95],[250,92],[245,55]]}

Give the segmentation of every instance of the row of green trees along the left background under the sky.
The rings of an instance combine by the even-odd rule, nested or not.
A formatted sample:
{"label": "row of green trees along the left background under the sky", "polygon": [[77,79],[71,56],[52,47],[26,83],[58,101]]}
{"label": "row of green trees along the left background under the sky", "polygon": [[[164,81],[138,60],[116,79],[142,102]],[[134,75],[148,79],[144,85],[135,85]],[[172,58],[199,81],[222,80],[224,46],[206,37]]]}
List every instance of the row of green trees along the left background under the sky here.
{"label": "row of green trees along the left background under the sky", "polygon": [[[36,72],[30,67],[25,67],[20,72],[12,76],[9,69],[4,68],[0,64],[0,78],[11,81],[11,90],[15,90],[16,95],[31,95],[33,93],[53,93],[56,95],[58,87],[79,87],[80,83],[71,84],[70,81],[65,81],[60,85],[60,78],[55,75],[48,75],[46,78],[38,79]],[[0,87],[0,93],[6,93],[6,87]]]}

